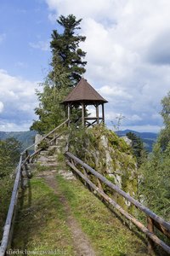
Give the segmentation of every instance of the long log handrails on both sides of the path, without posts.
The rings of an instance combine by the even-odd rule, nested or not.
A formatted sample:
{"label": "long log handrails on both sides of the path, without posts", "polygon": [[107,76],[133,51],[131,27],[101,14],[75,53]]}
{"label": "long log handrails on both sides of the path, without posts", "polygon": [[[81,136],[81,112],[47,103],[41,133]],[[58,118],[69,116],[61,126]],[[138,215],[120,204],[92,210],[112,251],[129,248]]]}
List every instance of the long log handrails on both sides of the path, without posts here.
{"label": "long log handrails on both sides of the path, without posts", "polygon": [[[54,133],[54,131],[57,131],[62,125],[65,125],[66,123],[69,122],[69,119],[66,119],[65,122],[63,122],[61,125],[57,126],[53,131],[48,132],[48,134],[44,137],[42,137],[40,143],[47,138],[49,135],[51,135],[52,133]],[[53,139],[51,139],[48,143],[52,143],[54,141],[54,139],[56,139],[57,137],[59,137],[61,134],[57,134]],[[17,172],[16,172],[16,177],[14,180],[14,189],[12,192],[12,196],[11,196],[11,201],[9,204],[9,208],[8,208],[8,215],[6,218],[6,222],[4,225],[4,231],[3,231],[3,239],[2,239],[2,243],[0,246],[0,256],[4,256],[9,244],[9,236],[11,234],[11,226],[14,220],[14,212],[15,212],[15,206],[17,203],[17,199],[18,199],[18,189],[20,188],[20,178],[21,178],[21,171],[24,165],[27,165],[27,163],[29,163],[29,161],[31,160],[31,158],[35,155],[38,154],[42,149],[37,149],[36,152],[34,152],[33,154],[28,154],[28,149],[32,148],[33,146],[35,146],[36,143],[32,144],[30,147],[26,148],[21,154],[20,154],[20,162],[19,165],[17,166]],[[69,144],[69,142],[68,142]],[[68,145],[66,147],[66,150],[68,150]],[[23,159],[24,154],[26,154],[26,158]],[[77,167],[75,166],[75,162],[79,165],[81,165],[84,168],[84,171],[86,172],[86,170],[88,170],[89,172],[91,172],[95,177],[97,177],[102,183],[105,183],[108,187],[110,187],[111,189],[114,189],[116,191],[116,193],[118,193],[119,195],[122,195],[125,199],[127,199],[127,201],[130,201],[135,207],[139,208],[139,210],[141,210],[142,212],[144,212],[146,214],[146,216],[148,218],[150,218],[151,224],[155,225],[159,230],[161,230],[161,232],[163,234],[165,234],[167,237],[169,237],[170,234],[170,223],[168,223],[166,220],[164,220],[163,218],[159,217],[158,215],[156,215],[156,213],[150,211],[149,208],[144,207],[144,205],[142,205],[141,203],[139,203],[139,201],[133,199],[132,196],[128,195],[126,192],[124,192],[122,189],[120,189],[119,187],[117,187],[116,185],[114,185],[113,183],[111,183],[107,178],[105,178],[104,176],[102,176],[99,172],[96,172],[92,167],[88,166],[86,163],[84,163],[82,160],[78,159],[75,155],[71,154],[70,152],[66,151],[65,152],[65,156],[68,159],[71,159],[73,162],[71,163],[69,160],[66,160],[66,163],[71,166],[71,168],[77,172],[77,174],[82,177],[86,183],[88,183],[94,190],[96,190],[99,195],[101,195],[105,201],[108,201],[113,207],[116,207],[116,209],[122,213],[123,216],[125,216],[127,219],[129,219],[130,221],[133,222],[133,224],[135,224],[137,227],[139,227],[140,230],[142,230],[144,232],[144,234],[146,234],[149,239],[151,241],[154,241],[157,245],[161,246],[167,253],[170,253],[170,247],[167,246],[167,244],[163,241],[161,241],[161,239],[159,239],[154,233],[153,230],[150,230],[150,227],[148,226],[148,228],[146,228],[144,226],[144,224],[141,224],[139,222],[139,220],[137,220],[136,218],[134,218],[132,215],[130,215],[128,212],[126,212],[125,210],[122,209],[122,207],[120,207],[116,201],[113,201],[113,199],[111,199],[111,197],[109,197],[108,195],[105,194],[105,192],[102,189],[99,189],[94,183],[92,183],[87,175],[83,175],[82,172],[80,172]]]}

